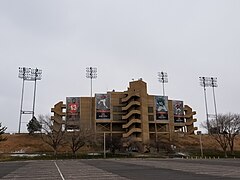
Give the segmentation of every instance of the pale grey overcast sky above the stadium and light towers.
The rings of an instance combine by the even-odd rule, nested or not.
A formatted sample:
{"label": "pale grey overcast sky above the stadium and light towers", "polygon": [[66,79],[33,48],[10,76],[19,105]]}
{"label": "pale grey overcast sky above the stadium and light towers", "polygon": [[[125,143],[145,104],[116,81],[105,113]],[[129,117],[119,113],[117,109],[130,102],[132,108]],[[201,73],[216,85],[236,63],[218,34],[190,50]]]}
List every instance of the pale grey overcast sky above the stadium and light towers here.
{"label": "pale grey overcast sky above the stadium and light towers", "polygon": [[[239,0],[0,0],[0,122],[18,131],[23,66],[43,70],[36,115],[66,96],[90,96],[89,66],[98,68],[93,93],[143,78],[149,94],[161,95],[157,72],[167,72],[166,95],[190,105],[197,126],[206,119],[199,76],[217,77],[218,112],[240,113],[239,19]],[[212,89],[207,95],[214,114]]]}

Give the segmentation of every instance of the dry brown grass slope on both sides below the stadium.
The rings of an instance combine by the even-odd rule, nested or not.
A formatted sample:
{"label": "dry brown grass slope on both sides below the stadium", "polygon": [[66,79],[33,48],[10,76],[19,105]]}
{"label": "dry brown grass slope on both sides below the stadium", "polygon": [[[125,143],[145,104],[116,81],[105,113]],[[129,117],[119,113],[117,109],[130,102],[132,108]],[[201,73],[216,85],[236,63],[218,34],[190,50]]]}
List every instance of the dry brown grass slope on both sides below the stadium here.
{"label": "dry brown grass slope on both sides below the stadium", "polygon": [[[5,134],[7,141],[0,142],[0,153],[12,152],[50,152],[51,147],[44,143],[40,134]],[[236,138],[235,150],[240,151],[240,136]],[[199,148],[199,136],[196,135],[181,135],[176,136],[174,141],[183,149]],[[202,142],[204,149],[221,150],[219,145],[208,135],[202,135]],[[61,152],[71,152],[68,147],[60,149]]]}

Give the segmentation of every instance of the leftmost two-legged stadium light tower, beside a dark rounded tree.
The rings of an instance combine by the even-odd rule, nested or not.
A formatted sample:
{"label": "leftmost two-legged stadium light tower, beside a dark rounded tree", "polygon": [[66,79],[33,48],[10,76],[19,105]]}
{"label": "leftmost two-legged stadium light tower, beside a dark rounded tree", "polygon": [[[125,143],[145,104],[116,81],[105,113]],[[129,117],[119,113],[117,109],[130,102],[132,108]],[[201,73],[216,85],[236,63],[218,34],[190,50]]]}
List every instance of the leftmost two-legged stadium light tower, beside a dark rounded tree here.
{"label": "leftmost two-legged stadium light tower, beside a dark rounded tree", "polygon": [[[21,105],[20,105],[20,117],[19,117],[19,126],[18,126],[18,133],[20,133],[21,132],[21,123],[22,123],[22,114],[32,114],[32,118],[34,117],[37,80],[42,79],[42,70],[40,70],[38,68],[32,69],[32,68],[26,68],[26,67],[19,67],[18,77],[23,80],[23,82],[22,82]],[[34,81],[32,111],[24,111],[23,110],[23,97],[24,97],[25,81]]]}

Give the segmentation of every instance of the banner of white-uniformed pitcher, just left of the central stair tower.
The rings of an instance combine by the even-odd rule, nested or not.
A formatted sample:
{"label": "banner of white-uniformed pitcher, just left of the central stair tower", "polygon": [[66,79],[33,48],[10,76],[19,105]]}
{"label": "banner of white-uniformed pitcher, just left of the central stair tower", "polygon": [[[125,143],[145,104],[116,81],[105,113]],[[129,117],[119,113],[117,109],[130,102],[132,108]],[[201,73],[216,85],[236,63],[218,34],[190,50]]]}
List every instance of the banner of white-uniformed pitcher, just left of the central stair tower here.
{"label": "banner of white-uniformed pitcher, just left of the central stair tower", "polygon": [[96,94],[96,119],[110,119],[110,95]]}

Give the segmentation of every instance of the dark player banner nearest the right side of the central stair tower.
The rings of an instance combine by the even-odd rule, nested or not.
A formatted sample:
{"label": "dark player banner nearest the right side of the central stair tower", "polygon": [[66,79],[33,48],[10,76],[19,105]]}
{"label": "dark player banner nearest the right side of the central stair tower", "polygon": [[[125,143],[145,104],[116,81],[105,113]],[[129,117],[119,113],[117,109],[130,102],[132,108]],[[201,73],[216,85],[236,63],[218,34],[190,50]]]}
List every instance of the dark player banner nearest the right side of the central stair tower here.
{"label": "dark player banner nearest the right side of the central stair tower", "polygon": [[168,119],[168,97],[155,96],[156,120]]}

